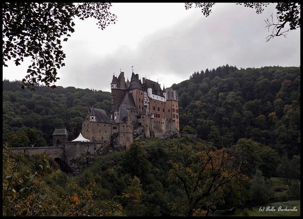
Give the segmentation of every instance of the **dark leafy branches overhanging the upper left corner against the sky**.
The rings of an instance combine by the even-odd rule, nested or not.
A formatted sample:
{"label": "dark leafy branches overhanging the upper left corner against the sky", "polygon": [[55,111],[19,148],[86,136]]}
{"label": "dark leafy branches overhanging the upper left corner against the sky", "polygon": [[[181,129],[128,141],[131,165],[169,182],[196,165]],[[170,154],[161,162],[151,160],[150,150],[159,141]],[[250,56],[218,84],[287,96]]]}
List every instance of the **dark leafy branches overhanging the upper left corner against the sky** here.
{"label": "dark leafy branches overhanging the upper left corner against the sky", "polygon": [[97,24],[103,30],[115,23],[116,16],[108,11],[111,6],[111,3],[3,3],[3,66],[7,67],[8,59],[13,58],[18,66],[24,57],[30,57],[32,64],[23,84],[28,88],[39,82],[50,86],[59,79],[57,69],[65,66],[61,39],[67,41],[70,33],[75,32],[73,19],[98,19]]}

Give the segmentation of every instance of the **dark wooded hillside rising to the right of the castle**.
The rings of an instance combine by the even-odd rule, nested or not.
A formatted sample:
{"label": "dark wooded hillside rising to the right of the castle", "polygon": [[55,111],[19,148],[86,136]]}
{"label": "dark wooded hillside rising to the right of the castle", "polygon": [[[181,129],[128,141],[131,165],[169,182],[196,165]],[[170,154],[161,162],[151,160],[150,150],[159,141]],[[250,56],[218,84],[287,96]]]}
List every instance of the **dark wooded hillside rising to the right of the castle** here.
{"label": "dark wooded hillside rising to the right of the castle", "polygon": [[186,125],[217,147],[247,138],[278,151],[300,154],[300,67],[237,69],[220,66],[194,72],[174,84],[180,130]]}

